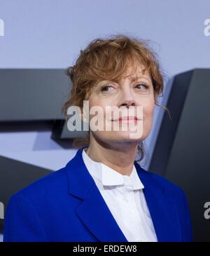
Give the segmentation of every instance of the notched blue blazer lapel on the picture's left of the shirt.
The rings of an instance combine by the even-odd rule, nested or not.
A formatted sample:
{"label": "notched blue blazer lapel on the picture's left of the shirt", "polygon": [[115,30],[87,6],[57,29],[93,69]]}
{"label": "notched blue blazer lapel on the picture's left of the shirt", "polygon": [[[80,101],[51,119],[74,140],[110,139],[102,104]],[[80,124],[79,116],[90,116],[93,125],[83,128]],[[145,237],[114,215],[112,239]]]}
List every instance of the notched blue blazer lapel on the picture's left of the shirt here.
{"label": "notched blue blazer lapel on the picture's left of the shirt", "polygon": [[127,242],[83,162],[82,151],[66,165],[69,194],[80,199],[76,214],[99,241]]}

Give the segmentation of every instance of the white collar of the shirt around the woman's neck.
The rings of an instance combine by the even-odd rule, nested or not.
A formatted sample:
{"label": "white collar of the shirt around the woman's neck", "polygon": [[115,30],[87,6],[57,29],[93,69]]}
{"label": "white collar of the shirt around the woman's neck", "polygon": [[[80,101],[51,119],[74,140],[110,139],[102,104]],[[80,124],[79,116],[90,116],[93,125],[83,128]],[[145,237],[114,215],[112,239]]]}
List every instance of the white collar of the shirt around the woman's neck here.
{"label": "white collar of the shirt around the woman's neck", "polygon": [[134,165],[130,176],[120,174],[102,162],[92,160],[85,152],[85,148],[83,148],[83,161],[91,176],[101,181],[104,186],[124,185],[131,186],[133,190],[144,188]]}

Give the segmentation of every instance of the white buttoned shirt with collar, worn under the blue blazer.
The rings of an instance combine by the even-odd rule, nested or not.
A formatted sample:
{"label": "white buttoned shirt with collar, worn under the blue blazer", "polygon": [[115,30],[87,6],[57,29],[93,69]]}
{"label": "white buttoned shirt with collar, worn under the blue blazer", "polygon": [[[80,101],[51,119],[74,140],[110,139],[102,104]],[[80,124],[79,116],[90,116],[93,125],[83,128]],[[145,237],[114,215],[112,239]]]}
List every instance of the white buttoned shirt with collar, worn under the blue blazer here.
{"label": "white buttoned shirt with collar, worn under the blue blazer", "polygon": [[130,176],[93,161],[83,149],[83,161],[106,205],[129,242],[157,242],[144,192],[133,166]]}

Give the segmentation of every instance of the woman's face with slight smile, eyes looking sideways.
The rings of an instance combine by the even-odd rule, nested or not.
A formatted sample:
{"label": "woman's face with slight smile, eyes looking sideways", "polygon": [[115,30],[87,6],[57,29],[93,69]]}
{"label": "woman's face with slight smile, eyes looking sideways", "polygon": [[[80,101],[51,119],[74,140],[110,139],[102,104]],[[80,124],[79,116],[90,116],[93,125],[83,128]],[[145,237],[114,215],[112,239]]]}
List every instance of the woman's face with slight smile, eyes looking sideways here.
{"label": "woman's face with slight smile, eyes looking sideways", "polygon": [[[139,143],[151,131],[155,107],[151,77],[143,65],[138,65],[137,72],[133,73],[130,66],[125,75],[132,76],[123,75],[118,83],[103,80],[92,89],[89,97],[90,132],[105,143]],[[100,112],[94,113],[93,107]],[[95,126],[92,129],[94,124],[100,130]]]}

